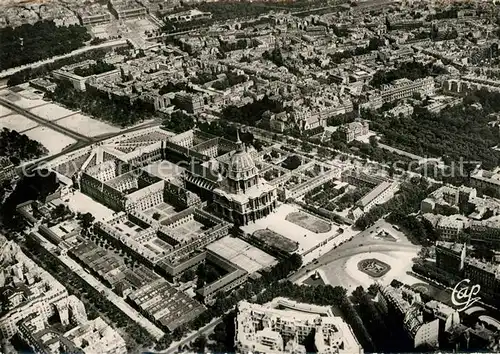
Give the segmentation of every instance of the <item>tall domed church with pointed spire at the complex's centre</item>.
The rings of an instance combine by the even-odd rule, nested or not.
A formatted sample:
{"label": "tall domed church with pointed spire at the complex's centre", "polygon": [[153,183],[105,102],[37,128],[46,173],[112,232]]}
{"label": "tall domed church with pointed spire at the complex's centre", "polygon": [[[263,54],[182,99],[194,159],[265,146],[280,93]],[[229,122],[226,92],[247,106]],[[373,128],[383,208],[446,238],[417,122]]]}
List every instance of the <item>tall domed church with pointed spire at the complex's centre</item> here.
{"label": "tall domed church with pointed spire at the complex's centre", "polygon": [[255,221],[276,208],[276,188],[259,177],[259,169],[245,145],[237,139],[238,148],[219,160],[223,176],[213,190],[216,212],[240,225]]}

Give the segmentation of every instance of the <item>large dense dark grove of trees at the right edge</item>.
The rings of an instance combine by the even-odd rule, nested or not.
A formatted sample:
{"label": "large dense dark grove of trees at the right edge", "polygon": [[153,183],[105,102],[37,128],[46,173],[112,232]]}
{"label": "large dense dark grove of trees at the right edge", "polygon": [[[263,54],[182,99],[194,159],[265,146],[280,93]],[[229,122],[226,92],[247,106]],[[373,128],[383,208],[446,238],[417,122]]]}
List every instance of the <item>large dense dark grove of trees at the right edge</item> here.
{"label": "large dense dark grove of trees at the right edge", "polygon": [[430,113],[415,107],[410,117],[391,117],[366,111],[370,128],[382,142],[420,156],[443,157],[451,161],[477,161],[483,168],[498,166],[500,132],[488,125],[490,113],[500,111],[500,93],[481,90],[464,98],[464,103]]}

